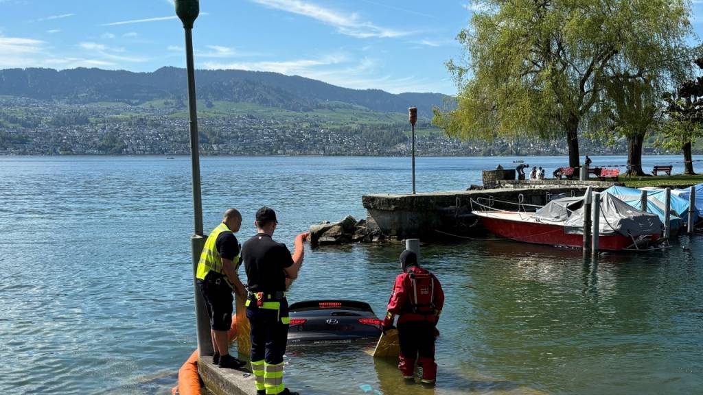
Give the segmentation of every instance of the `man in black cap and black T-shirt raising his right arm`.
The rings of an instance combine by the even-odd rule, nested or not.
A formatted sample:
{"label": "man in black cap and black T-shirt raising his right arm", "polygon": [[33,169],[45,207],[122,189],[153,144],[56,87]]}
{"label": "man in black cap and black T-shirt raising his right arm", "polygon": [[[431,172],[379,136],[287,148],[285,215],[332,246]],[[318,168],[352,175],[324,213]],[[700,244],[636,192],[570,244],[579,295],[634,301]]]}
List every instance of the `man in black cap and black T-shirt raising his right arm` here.
{"label": "man in black cap and black T-shirt raising his right arm", "polygon": [[308,233],[295,239],[291,256],[283,243],[271,238],[276,230],[276,212],[269,207],[257,211],[257,235],[242,247],[247,272],[247,318],[251,325],[252,373],[257,395],[297,395],[283,384],[283,354],[288,342],[288,301],[285,289],[297,278],[303,261],[303,241]]}

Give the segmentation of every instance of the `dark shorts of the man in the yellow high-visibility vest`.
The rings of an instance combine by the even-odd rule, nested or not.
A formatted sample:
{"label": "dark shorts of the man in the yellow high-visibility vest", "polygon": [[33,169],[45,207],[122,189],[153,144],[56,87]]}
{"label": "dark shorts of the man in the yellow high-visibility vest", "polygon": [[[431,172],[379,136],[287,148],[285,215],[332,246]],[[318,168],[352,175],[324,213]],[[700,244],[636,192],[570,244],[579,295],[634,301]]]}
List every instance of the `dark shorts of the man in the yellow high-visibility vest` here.
{"label": "dark shorts of the man in the yellow high-visibility vest", "polygon": [[212,330],[229,330],[232,326],[234,297],[232,289],[227,285],[224,277],[218,273],[210,272],[205,280],[198,280],[198,287],[202,298],[205,299],[210,328]]}

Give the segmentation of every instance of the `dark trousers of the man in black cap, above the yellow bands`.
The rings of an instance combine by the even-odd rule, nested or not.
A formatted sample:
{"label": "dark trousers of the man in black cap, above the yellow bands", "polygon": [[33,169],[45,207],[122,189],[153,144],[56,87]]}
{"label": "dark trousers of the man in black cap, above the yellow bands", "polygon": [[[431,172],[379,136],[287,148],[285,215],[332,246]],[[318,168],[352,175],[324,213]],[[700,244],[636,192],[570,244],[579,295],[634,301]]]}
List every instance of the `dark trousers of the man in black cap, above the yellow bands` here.
{"label": "dark trousers of the man in black cap, above the yellow bands", "polygon": [[[272,302],[272,301],[266,301]],[[251,325],[252,361],[262,359],[271,365],[283,362],[285,346],[288,343],[288,323],[281,318],[288,318],[288,300],[281,299],[280,309],[262,309],[252,300],[247,306],[247,318]]]}

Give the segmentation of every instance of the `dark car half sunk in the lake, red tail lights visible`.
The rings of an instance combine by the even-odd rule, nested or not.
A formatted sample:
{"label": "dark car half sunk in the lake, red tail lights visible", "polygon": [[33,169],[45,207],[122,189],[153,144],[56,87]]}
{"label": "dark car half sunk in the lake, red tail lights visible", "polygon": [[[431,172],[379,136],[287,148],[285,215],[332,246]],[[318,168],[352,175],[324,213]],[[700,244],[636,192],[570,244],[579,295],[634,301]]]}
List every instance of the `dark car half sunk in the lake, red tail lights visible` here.
{"label": "dark car half sunk in the lake, red tail lights visible", "polygon": [[289,307],[288,344],[344,344],[378,339],[383,321],[352,300],[309,300]]}

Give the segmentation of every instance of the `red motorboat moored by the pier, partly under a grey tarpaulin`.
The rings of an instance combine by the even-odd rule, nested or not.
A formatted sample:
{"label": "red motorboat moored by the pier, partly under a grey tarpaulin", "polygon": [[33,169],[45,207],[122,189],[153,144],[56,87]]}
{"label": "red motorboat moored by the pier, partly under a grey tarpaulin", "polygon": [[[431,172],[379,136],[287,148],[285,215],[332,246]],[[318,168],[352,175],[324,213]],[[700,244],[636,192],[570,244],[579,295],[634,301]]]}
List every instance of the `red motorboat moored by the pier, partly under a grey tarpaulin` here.
{"label": "red motorboat moored by the pier, partly under a grey tarpaulin", "polygon": [[[496,210],[472,203],[473,214],[499,238],[560,247],[583,246],[583,197],[553,200],[537,212]],[[601,194],[599,222],[600,250],[646,250],[659,244],[663,233],[659,216],[635,209],[608,193]]]}

